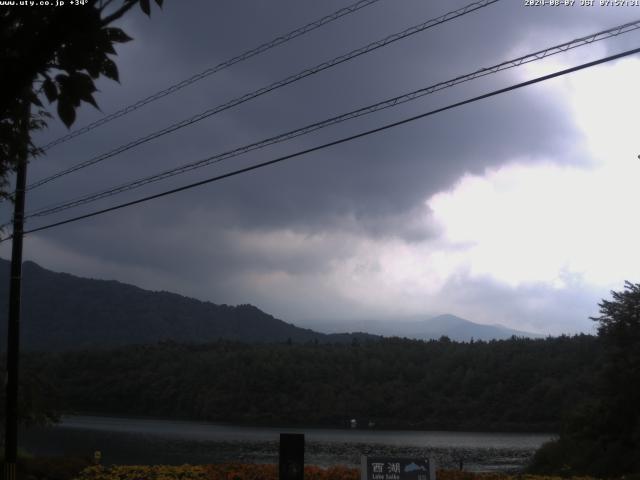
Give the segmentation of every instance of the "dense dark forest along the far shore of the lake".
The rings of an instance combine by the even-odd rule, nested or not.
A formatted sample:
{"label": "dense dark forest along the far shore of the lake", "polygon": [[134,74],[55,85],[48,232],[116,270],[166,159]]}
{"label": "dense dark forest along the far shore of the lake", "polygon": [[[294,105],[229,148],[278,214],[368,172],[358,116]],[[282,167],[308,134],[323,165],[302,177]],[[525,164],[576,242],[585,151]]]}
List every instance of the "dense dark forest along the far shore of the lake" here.
{"label": "dense dark forest along the far shore of the lake", "polygon": [[561,418],[592,395],[599,357],[598,339],[580,335],[471,343],[164,342],[31,353],[23,366],[26,376],[55,386],[69,413],[558,431]]}

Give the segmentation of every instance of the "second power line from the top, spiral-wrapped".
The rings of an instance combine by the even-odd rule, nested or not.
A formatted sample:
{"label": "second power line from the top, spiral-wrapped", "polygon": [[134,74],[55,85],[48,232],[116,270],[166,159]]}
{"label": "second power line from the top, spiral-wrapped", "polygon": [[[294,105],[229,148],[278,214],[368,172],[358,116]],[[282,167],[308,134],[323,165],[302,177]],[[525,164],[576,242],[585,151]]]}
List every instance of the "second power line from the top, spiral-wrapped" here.
{"label": "second power line from the top, spiral-wrapped", "polygon": [[72,166],[70,168],[67,168],[66,170],[63,170],[63,171],[58,172],[58,173],[56,173],[54,175],[51,175],[49,177],[46,177],[46,178],[43,178],[43,179],[41,179],[39,181],[31,183],[30,185],[27,186],[27,190],[32,190],[34,188],[42,186],[45,183],[51,182],[52,180],[60,178],[60,177],[62,177],[64,175],[68,175],[68,174],[70,174],[72,172],[75,172],[77,170],[86,168],[86,167],[88,167],[90,165],[94,165],[94,164],[96,164],[98,162],[101,162],[101,161],[106,160],[108,158],[114,157],[116,155],[119,155],[120,153],[123,153],[123,152],[125,152],[127,150],[130,150],[130,149],[132,149],[134,147],[137,147],[138,145],[142,145],[143,143],[147,143],[147,142],[149,142],[151,140],[154,140],[156,138],[159,138],[159,137],[162,137],[162,136],[167,135],[169,133],[175,132],[176,130],[179,130],[181,128],[187,127],[189,125],[192,125],[192,124],[194,124],[196,122],[204,120],[205,118],[208,118],[208,117],[210,117],[212,115],[215,115],[216,113],[222,112],[224,110],[228,110],[228,109],[230,109],[232,107],[240,105],[240,104],[242,104],[244,102],[252,100],[252,99],[254,99],[256,97],[259,97],[261,95],[264,95],[265,93],[271,92],[271,91],[276,90],[276,89],[281,88],[281,87],[284,87],[286,85],[289,85],[290,83],[297,82],[298,80],[301,80],[301,79],[303,79],[305,77],[314,75],[314,74],[316,74],[318,72],[321,72],[321,71],[326,70],[328,68],[334,67],[336,65],[344,63],[344,62],[346,62],[348,60],[351,60],[353,58],[356,58],[356,57],[358,57],[360,55],[364,55],[365,53],[369,53],[369,52],[371,52],[373,50],[376,50],[378,48],[381,48],[381,47],[384,47],[386,45],[389,45],[389,44],[391,44],[393,42],[396,42],[398,40],[406,38],[406,37],[408,37],[410,35],[414,35],[416,33],[422,32],[423,30],[426,30],[428,28],[440,25],[442,23],[448,22],[448,21],[453,20],[455,18],[458,18],[458,17],[461,17],[461,16],[466,15],[468,13],[471,13],[471,12],[473,12],[475,10],[479,10],[481,8],[487,7],[487,6],[489,6],[489,5],[493,4],[493,3],[496,3],[498,1],[500,1],[500,0],[480,0],[480,1],[476,1],[476,2],[473,2],[473,3],[471,3],[471,4],[469,4],[469,5],[465,6],[465,7],[460,8],[458,10],[454,10],[454,11],[448,12],[448,13],[446,13],[444,15],[441,15],[440,17],[437,17],[437,18],[434,18],[434,19],[431,19],[431,20],[427,20],[426,22],[423,22],[423,23],[421,23],[419,25],[415,25],[413,27],[410,27],[410,28],[408,28],[406,30],[403,30],[402,32],[394,33],[392,35],[389,35],[388,37],[385,37],[382,40],[378,40],[376,42],[372,42],[372,43],[370,43],[368,45],[365,45],[364,47],[360,47],[358,49],[352,50],[349,53],[346,53],[346,54],[341,55],[339,57],[335,57],[335,58],[333,58],[333,59],[331,59],[331,60],[329,60],[327,62],[320,63],[320,64],[318,64],[318,65],[316,65],[314,67],[311,67],[311,68],[308,68],[306,70],[303,70],[303,71],[301,71],[301,72],[299,72],[299,73],[297,73],[295,75],[290,75],[289,77],[287,77],[287,78],[285,78],[283,80],[274,82],[271,85],[268,85],[266,87],[262,87],[262,88],[260,88],[258,90],[254,90],[253,92],[247,93],[247,94],[245,94],[245,95],[243,95],[241,97],[234,98],[233,100],[230,100],[230,101],[228,101],[228,102],[226,102],[224,104],[218,105],[218,106],[216,106],[214,108],[206,110],[206,111],[204,111],[202,113],[199,113],[197,115],[194,115],[194,116],[192,116],[190,118],[187,118],[187,119],[182,120],[180,122],[174,123],[174,124],[172,124],[172,125],[170,125],[168,127],[165,127],[165,128],[163,128],[161,130],[153,132],[153,133],[151,133],[149,135],[146,135],[144,137],[138,138],[138,139],[136,139],[136,140],[134,140],[132,142],[129,142],[129,143],[125,144],[125,145],[121,145],[121,146],[119,146],[119,147],[117,147],[117,148],[115,148],[115,149],[113,149],[113,150],[111,150],[111,151],[109,151],[107,153],[104,153],[102,155],[98,155],[98,156],[93,157],[93,158],[91,158],[89,160],[86,160],[84,162],[76,164],[76,165],[74,165],[74,166]]}

